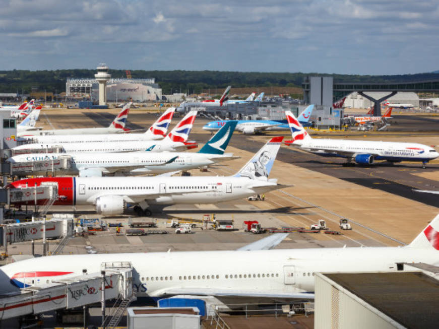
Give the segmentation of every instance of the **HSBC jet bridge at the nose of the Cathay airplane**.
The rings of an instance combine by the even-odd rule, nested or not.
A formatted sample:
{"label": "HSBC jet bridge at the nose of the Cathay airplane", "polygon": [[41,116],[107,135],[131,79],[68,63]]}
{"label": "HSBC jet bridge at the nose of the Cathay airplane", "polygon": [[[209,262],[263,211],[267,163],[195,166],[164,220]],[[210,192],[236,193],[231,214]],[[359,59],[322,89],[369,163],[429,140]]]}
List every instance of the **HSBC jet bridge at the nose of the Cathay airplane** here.
{"label": "HSBC jet bridge at the nose of the Cathay airplane", "polygon": [[[63,171],[72,168],[72,156],[59,155],[57,159],[44,159],[36,157],[32,161],[12,163],[12,174],[17,176],[26,176],[43,171],[53,174],[55,171]],[[41,158],[41,159],[40,159]]]}

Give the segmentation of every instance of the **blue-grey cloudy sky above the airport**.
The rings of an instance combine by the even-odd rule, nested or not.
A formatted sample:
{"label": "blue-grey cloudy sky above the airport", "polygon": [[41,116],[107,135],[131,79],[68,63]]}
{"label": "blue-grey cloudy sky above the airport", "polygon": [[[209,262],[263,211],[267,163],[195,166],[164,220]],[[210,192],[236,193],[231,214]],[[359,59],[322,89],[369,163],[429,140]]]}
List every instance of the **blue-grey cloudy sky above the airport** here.
{"label": "blue-grey cloudy sky above the airport", "polygon": [[2,0],[0,70],[439,70],[436,0]]}

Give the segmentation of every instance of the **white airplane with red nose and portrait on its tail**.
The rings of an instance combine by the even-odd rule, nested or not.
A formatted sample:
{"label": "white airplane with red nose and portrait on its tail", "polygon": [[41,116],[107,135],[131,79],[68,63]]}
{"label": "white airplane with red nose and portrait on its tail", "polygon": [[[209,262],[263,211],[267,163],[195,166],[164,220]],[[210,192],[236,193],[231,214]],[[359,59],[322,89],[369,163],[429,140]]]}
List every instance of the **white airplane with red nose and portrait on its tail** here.
{"label": "white airplane with red nose and portrait on its tail", "polygon": [[127,204],[134,211],[150,216],[154,209],[174,204],[211,204],[247,198],[287,187],[268,179],[283,137],[272,138],[235,175],[163,177],[47,177],[15,181],[13,187],[58,184],[54,205],[96,205],[104,215],[122,214]]}

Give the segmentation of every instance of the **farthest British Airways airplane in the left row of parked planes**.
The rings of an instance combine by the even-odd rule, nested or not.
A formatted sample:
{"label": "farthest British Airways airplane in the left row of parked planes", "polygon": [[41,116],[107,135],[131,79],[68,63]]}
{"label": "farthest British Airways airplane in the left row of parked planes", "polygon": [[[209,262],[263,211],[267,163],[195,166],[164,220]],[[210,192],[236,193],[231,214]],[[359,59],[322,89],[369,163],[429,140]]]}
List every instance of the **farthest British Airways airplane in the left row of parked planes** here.
{"label": "farthest British Airways airplane in the left row of parked planes", "polygon": [[89,134],[109,134],[109,133],[126,133],[129,129],[125,129],[125,123],[127,122],[128,113],[130,112],[130,104],[122,108],[119,114],[116,115],[114,120],[110,123],[108,127],[94,127],[94,128],[74,128],[74,129],[48,129],[48,130],[38,130],[38,131],[24,131],[17,134],[18,137],[24,138],[24,140],[37,140],[39,138],[44,138],[46,135],[56,135],[55,137],[47,137],[52,139],[64,138],[62,135],[89,135]]}

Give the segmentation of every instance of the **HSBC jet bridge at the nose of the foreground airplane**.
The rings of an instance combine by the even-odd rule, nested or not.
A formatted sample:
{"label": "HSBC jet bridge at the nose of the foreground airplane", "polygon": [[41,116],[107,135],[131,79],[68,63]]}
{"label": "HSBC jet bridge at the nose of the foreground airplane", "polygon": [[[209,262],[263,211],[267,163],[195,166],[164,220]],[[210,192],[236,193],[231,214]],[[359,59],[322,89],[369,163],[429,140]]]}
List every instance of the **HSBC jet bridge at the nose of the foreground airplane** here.
{"label": "HSBC jet bridge at the nose of the foreground airplane", "polygon": [[[20,294],[0,297],[0,320],[59,309],[72,309],[120,296],[133,296],[131,265],[113,268],[104,274],[84,273],[51,282],[39,282],[39,279],[32,277],[31,274],[32,272],[28,272],[23,278],[17,278],[24,285],[28,285],[21,289]],[[102,289],[102,286],[105,289]],[[102,290],[104,290],[103,300]]]}

